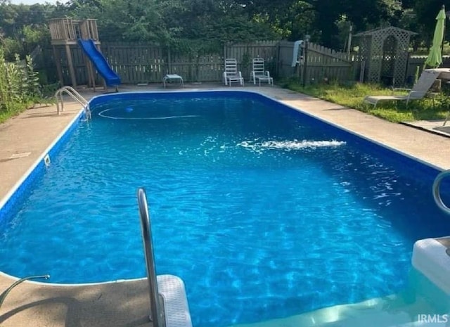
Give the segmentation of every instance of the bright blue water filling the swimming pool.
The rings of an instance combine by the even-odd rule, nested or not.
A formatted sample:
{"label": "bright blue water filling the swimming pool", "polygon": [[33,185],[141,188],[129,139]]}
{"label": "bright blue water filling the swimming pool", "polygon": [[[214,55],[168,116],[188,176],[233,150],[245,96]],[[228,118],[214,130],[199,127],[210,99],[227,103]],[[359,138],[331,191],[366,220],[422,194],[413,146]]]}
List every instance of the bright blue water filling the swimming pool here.
{"label": "bright blue water filling the swimming pool", "polygon": [[29,196],[0,221],[0,269],[53,283],[157,274],[193,325],[228,326],[395,293],[420,238],[446,236],[437,172],[257,94],[95,98]]}

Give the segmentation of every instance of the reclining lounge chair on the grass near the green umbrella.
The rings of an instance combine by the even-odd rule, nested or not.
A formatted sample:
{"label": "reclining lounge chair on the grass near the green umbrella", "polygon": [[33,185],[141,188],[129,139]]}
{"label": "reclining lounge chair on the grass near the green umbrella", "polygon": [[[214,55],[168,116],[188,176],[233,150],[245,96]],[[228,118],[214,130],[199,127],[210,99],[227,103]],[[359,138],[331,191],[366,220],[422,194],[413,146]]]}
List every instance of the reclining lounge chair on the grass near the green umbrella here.
{"label": "reclining lounge chair on the grass near the green umbrella", "polygon": [[440,71],[433,69],[423,70],[416,84],[414,84],[412,89],[394,89],[409,91],[408,94],[404,96],[366,96],[364,102],[373,104],[373,108],[376,107],[379,101],[406,101],[408,105],[410,100],[419,100],[423,98],[429,91],[432,84],[435,82],[437,77],[439,77]]}

